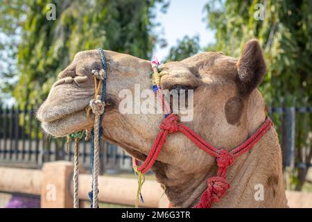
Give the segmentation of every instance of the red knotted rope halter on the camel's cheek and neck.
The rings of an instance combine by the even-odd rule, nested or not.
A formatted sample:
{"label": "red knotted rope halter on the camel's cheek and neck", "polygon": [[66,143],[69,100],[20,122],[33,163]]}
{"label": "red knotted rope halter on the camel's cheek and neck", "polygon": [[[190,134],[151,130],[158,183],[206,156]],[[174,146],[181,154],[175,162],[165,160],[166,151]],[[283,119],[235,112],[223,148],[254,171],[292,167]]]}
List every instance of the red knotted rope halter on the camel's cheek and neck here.
{"label": "red knotted rope halter on the camel's cheek and neck", "polygon": [[[154,60],[153,62],[152,66],[153,64],[159,65],[157,60]],[[153,71],[154,74],[158,74],[157,66],[153,66]],[[168,113],[168,111],[170,112],[170,106],[163,98],[164,95],[162,94],[162,89],[159,83],[157,83],[156,87],[156,94],[161,98],[160,101],[162,103],[163,110],[166,111],[165,113]],[[243,144],[232,149],[232,151],[227,151],[225,149],[218,150],[202,139],[197,133],[193,132],[193,130],[187,126],[184,126],[182,123],[179,123],[177,121],[177,115],[171,113],[160,124],[159,133],[155,138],[150,153],[148,153],[144,163],[141,164],[141,166],[138,166],[137,160],[134,159],[132,164],[134,167],[137,167],[137,171],[146,173],[146,171],[148,171],[148,169],[150,169],[150,167],[152,167],[154,162],[157,160],[160,151],[162,151],[162,146],[164,146],[166,142],[167,135],[170,133],[177,133],[177,131],[183,133],[200,149],[209,155],[216,157],[216,163],[218,165],[217,175],[208,178],[207,189],[202,193],[200,203],[195,206],[195,208],[210,208],[213,203],[218,203],[220,198],[226,194],[227,189],[230,188],[229,182],[227,182],[227,167],[231,166],[237,157],[249,151],[254,146],[254,144],[257,144],[261,137],[263,137],[263,135],[265,135],[268,130],[270,130],[271,126],[272,121],[267,117],[266,121],[262,123],[259,129]]]}

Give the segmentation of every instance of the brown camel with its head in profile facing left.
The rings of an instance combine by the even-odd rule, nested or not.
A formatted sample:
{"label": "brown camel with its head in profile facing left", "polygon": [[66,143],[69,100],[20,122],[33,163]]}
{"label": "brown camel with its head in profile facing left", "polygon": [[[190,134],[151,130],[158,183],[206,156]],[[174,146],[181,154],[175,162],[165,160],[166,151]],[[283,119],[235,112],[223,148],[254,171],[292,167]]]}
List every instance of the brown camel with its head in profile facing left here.
{"label": "brown camel with its head in profile facing left", "polygon": [[[132,157],[145,160],[159,131],[162,114],[121,114],[122,89],[134,85],[150,89],[150,62],[105,51],[107,58],[107,104],[103,139],[121,146]],[[85,108],[94,96],[92,69],[102,69],[97,50],[76,54],[59,75],[37,112],[44,131],[55,137],[92,128]],[[266,119],[266,105],[257,86],[266,65],[257,40],[244,46],[236,60],[223,53],[198,53],[162,67],[163,89],[194,89],[193,119],[184,122],[216,148],[242,144]],[[168,136],[152,167],[158,182],[166,186],[173,207],[194,207],[207,189],[207,178],[216,175],[216,160],[182,133]],[[231,188],[213,207],[287,207],[281,170],[281,148],[272,127],[259,143],[241,155],[227,170]],[[263,198],[256,198],[258,187]],[[261,191],[261,190],[260,190]]]}

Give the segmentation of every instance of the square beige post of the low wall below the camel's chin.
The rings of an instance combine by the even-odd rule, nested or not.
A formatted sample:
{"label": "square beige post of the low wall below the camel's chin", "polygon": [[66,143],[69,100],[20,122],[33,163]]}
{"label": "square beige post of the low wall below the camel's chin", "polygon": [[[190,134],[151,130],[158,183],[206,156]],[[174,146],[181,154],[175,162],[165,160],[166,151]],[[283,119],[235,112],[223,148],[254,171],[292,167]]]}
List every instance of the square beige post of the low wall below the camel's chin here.
{"label": "square beige post of the low wall below the camel's chin", "polygon": [[71,183],[73,164],[67,161],[46,162],[42,167],[42,208],[72,208]]}

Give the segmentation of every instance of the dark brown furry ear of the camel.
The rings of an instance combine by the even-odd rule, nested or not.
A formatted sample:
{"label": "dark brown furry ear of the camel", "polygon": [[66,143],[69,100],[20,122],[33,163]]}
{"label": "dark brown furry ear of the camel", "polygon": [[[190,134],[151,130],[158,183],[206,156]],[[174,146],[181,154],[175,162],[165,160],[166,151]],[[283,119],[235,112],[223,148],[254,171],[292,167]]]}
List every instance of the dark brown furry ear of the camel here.
{"label": "dark brown furry ear of the camel", "polygon": [[241,94],[250,94],[262,81],[266,73],[261,46],[257,40],[245,43],[239,62],[236,63],[238,71],[238,87]]}

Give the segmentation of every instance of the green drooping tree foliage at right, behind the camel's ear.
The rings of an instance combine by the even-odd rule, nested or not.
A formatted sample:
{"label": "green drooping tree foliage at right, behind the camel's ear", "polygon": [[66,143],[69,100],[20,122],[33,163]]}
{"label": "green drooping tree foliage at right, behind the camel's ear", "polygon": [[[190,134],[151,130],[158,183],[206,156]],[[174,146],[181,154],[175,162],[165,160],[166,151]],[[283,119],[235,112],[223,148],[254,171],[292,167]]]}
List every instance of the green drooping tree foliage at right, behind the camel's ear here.
{"label": "green drooping tree foliage at right, behind the camel's ear", "polygon": [[[238,58],[243,44],[257,37],[268,68],[260,87],[267,103],[311,106],[310,0],[210,0],[205,9],[208,27],[216,31],[216,44],[208,46],[207,50],[223,51]],[[312,157],[311,114],[297,117],[296,121],[297,162],[309,164]],[[280,129],[281,122],[276,120],[275,123]],[[295,189],[302,188],[306,171],[307,168],[302,168],[294,173]]]}

